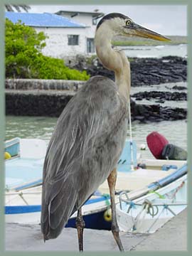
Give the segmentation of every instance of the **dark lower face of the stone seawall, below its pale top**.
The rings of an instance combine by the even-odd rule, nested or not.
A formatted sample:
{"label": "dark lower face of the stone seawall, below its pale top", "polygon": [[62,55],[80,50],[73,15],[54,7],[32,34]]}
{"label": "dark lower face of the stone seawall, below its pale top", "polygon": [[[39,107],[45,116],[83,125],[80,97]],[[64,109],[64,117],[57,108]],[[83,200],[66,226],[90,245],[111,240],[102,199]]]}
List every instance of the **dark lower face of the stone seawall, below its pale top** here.
{"label": "dark lower face of the stone seawall, below its pale top", "polygon": [[58,117],[75,92],[6,91],[6,114]]}

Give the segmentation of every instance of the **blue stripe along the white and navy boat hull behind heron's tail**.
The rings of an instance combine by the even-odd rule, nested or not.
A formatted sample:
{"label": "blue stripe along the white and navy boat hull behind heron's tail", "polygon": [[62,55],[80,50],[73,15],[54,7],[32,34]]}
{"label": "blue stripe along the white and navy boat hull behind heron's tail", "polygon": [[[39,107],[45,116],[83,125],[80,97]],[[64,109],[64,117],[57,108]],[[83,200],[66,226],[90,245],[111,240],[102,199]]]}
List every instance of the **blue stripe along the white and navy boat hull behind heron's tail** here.
{"label": "blue stripe along the white and navy boat hull behind heron's tail", "polygon": [[[106,197],[102,196],[99,198],[92,198],[88,200],[84,205],[89,205],[91,203],[98,203],[105,201]],[[41,205],[32,206],[5,206],[5,214],[21,214],[21,213],[37,213],[41,211]]]}

